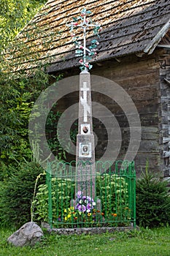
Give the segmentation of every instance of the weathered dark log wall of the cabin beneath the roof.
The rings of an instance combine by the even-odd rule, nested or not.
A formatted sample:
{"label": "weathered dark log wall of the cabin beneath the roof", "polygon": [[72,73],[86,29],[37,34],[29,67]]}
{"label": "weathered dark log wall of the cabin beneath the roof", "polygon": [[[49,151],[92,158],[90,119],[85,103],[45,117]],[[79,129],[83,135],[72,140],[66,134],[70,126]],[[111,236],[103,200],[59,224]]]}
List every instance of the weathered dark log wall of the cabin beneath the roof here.
{"label": "weathered dark log wall of the cabin beneath the roof", "polygon": [[[79,72],[79,69],[66,70],[64,77],[78,75]],[[142,58],[126,56],[118,60],[104,61],[100,64],[94,64],[90,73],[91,75],[98,75],[115,81],[125,89],[136,105],[142,127],[139,151],[134,159],[137,176],[145,169],[147,159],[152,172],[158,172],[163,176],[163,171],[165,173],[167,169],[165,169],[166,165],[168,167],[166,175],[168,175],[170,170],[170,120],[168,117],[170,111],[170,87],[163,81],[163,78],[161,78],[162,83],[160,83],[160,61],[157,54],[154,53],[152,56],[143,56]],[[164,71],[161,72],[161,76],[165,76]],[[168,78],[167,72],[166,77]],[[93,84],[91,86],[93,88]],[[161,96],[161,92],[166,94],[165,100],[163,95]],[[131,138],[128,118],[113,99],[97,92],[93,92],[92,98],[93,102],[100,102],[101,105],[109,109],[117,119],[122,135],[120,153],[117,159],[123,159]],[[69,105],[75,102],[78,102],[77,92],[61,99],[58,107],[64,110],[64,108],[68,108]],[[162,112],[162,108],[164,112]],[[166,114],[162,116],[165,111]],[[110,117],[108,116],[108,118]],[[161,125],[162,120],[164,120],[163,125]],[[100,159],[107,149],[108,129],[112,129],[115,134],[117,132],[112,123],[106,128],[101,124],[101,121],[94,118],[94,132],[98,137],[96,159]],[[161,135],[163,135],[162,140]],[[109,139],[112,140],[112,138]],[[115,143],[115,141],[112,140],[112,143]],[[166,153],[168,157],[164,158],[164,162],[161,153],[163,150],[168,152]],[[114,155],[114,152],[109,152],[109,154]]]}

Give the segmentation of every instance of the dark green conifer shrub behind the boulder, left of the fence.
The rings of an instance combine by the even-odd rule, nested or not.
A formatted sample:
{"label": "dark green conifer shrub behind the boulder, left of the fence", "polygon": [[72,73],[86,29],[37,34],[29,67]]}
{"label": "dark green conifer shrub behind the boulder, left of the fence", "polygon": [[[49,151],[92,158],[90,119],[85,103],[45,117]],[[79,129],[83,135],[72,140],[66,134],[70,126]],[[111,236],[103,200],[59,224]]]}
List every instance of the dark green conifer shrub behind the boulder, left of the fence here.
{"label": "dark green conifer shrub behind the boulder, left of the fence", "polygon": [[[0,219],[2,225],[19,227],[31,221],[31,201],[34,195],[36,177],[42,173],[42,167],[35,162],[24,162],[18,170],[1,182]],[[45,182],[45,181],[41,181]]]}

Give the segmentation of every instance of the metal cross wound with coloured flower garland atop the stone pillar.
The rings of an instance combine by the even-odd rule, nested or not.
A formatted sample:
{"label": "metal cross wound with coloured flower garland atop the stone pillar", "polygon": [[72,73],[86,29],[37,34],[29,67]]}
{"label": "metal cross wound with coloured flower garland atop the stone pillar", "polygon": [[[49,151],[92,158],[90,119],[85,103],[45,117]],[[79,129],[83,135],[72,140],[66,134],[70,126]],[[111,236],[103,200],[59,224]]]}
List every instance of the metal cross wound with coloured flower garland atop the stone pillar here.
{"label": "metal cross wound with coloured flower garland atop the stone pillar", "polygon": [[[87,48],[86,43],[86,36],[90,31],[90,28],[93,28],[93,34],[98,35],[98,32],[101,31],[101,26],[98,23],[93,23],[93,21],[87,18],[87,15],[90,15],[91,12],[87,11],[85,8],[82,10],[81,14],[77,18],[73,18],[70,27],[71,37],[73,39],[74,45],[76,47],[75,56],[83,56],[80,59],[80,69],[81,70],[88,70],[91,69],[93,66],[89,64],[89,61],[97,55],[97,46],[99,44],[97,39],[92,39],[90,41],[90,46]],[[83,31],[83,44],[80,41],[80,36],[76,36],[74,33],[74,29],[82,29]]]}

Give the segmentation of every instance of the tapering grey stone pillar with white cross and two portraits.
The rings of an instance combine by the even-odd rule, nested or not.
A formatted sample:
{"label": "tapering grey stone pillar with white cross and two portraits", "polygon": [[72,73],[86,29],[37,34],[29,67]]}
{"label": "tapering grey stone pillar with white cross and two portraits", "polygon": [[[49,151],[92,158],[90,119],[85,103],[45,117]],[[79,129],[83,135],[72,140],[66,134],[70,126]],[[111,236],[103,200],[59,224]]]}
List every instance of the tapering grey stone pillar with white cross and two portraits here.
{"label": "tapering grey stone pillar with white cross and two portraits", "polygon": [[91,106],[90,73],[80,73],[80,102],[77,135],[76,193],[96,197],[96,163]]}

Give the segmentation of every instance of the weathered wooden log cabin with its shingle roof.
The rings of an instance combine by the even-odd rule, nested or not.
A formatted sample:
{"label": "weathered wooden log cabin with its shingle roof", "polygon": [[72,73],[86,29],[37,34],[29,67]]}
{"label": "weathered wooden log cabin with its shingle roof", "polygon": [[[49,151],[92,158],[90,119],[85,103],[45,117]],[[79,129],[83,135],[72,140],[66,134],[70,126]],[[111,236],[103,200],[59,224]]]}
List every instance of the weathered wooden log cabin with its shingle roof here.
{"label": "weathered wooden log cabin with its shingle roof", "polygon": [[[15,71],[28,71],[41,62],[48,64],[46,70],[50,74],[62,73],[63,78],[79,75],[79,58],[75,57],[66,24],[79,16],[83,8],[91,11],[89,17],[102,26],[98,55],[91,61],[90,74],[121,86],[139,113],[142,133],[134,159],[137,175],[144,170],[148,159],[150,170],[169,177],[170,0],[49,0],[18,35],[30,50],[25,58],[20,53],[17,57],[13,55]],[[91,38],[89,31],[88,39]],[[121,106],[108,96],[93,92],[92,97],[93,102],[100,102],[117,119],[122,136],[117,159],[123,159],[131,140],[128,118]],[[58,109],[66,110],[77,101],[75,91],[58,102]],[[112,122],[108,128],[114,128]],[[94,118],[94,132],[98,136],[96,159],[107,148],[107,129]]]}

